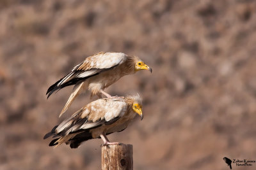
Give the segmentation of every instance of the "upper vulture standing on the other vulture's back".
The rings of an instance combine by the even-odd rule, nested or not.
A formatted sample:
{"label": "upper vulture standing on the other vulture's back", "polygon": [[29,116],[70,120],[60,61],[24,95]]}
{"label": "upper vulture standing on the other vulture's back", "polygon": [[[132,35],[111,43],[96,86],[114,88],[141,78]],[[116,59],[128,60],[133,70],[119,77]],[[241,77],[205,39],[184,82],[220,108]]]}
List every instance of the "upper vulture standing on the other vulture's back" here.
{"label": "upper vulture standing on the other vulture's back", "polygon": [[87,57],[83,62],[75,66],[70,73],[51,85],[47,90],[48,96],[64,87],[75,85],[61,115],[68,109],[74,99],[85,90],[90,90],[91,96],[101,94],[111,97],[103,90],[115,83],[122,76],[134,74],[136,71],[152,69],[136,56],[129,56],[118,52],[100,52]]}

